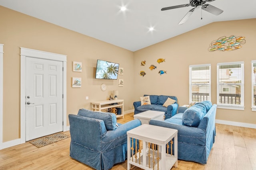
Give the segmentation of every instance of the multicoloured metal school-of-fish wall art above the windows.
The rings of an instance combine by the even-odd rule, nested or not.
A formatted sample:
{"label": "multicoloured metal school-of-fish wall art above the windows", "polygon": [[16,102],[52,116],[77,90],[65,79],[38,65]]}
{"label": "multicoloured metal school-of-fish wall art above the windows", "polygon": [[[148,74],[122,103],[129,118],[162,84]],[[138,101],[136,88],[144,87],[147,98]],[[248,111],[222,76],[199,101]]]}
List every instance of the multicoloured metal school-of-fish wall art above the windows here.
{"label": "multicoloured metal school-of-fish wall art above the windows", "polygon": [[220,37],[210,43],[208,51],[233,51],[242,48],[245,44],[245,37],[230,35],[229,37]]}

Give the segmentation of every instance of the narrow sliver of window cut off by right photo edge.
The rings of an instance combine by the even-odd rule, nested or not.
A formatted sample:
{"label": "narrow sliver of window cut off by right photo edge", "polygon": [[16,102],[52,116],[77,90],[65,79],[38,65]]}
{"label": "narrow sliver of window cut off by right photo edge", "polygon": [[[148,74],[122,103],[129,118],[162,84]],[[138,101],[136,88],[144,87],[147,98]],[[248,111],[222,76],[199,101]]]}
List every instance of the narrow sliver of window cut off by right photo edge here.
{"label": "narrow sliver of window cut off by right photo edge", "polygon": [[256,60],[252,61],[252,111],[256,111]]}

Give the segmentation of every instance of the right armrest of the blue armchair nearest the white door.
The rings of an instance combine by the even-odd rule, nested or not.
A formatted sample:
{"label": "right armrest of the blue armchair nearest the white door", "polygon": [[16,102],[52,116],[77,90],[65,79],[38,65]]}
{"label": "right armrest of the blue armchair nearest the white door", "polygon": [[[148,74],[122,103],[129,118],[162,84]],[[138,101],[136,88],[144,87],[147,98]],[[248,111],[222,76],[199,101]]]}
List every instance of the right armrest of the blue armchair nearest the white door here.
{"label": "right armrest of the blue armchair nearest the white door", "polygon": [[[124,136],[124,141],[127,141],[127,134],[126,132],[134,129],[135,127],[138,127],[141,125],[141,122],[139,119],[134,119],[132,121],[129,121],[127,123],[124,123],[120,126],[118,126],[115,130],[113,131],[107,131],[107,133],[104,134],[102,137],[102,142],[104,143],[113,143],[116,142],[118,138]],[[113,145],[113,144],[112,144]]]}

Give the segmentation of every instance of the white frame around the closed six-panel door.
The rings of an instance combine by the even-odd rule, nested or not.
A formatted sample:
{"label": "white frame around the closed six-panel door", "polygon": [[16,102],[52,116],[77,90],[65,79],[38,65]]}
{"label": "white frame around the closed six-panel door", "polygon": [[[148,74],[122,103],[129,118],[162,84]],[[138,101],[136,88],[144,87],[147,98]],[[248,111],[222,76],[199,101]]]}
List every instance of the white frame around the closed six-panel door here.
{"label": "white frame around the closed six-panel door", "polygon": [[66,55],[20,47],[20,142],[26,142],[26,57],[62,61],[63,63],[63,131],[67,131]]}

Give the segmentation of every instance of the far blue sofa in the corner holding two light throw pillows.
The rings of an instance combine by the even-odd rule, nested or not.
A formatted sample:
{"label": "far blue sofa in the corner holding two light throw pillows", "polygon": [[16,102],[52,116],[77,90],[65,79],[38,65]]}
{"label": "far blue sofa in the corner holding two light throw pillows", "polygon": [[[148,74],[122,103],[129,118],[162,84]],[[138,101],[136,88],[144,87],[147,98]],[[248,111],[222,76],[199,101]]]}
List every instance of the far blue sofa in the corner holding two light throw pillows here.
{"label": "far blue sofa in the corner holding two light throw pillows", "polygon": [[[144,111],[148,110],[154,110],[154,111],[164,111],[165,119],[168,119],[172,116],[174,116],[177,113],[178,110],[178,103],[177,103],[177,97],[176,96],[164,96],[164,95],[144,95],[144,96],[150,96],[150,105],[142,105],[141,102],[134,102],[134,114],[138,114]],[[174,104],[169,105],[168,107],[164,107],[163,104],[166,102],[168,98],[171,98],[172,100],[176,100]]]}

